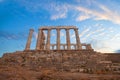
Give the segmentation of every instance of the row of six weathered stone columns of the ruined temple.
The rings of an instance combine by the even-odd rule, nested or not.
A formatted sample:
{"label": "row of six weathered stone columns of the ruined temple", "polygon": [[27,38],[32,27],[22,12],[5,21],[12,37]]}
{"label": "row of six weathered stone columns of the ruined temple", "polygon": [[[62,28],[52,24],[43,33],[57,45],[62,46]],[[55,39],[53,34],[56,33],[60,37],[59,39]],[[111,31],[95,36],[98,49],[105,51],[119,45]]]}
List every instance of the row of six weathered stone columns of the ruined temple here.
{"label": "row of six weathered stone columns of the ruined temple", "polygon": [[[46,44],[46,49],[50,50],[50,32],[51,29],[47,29],[48,30],[48,34],[47,34],[47,44]],[[57,28],[57,50],[60,50],[60,29]],[[70,45],[70,34],[69,34],[69,28],[66,28],[66,43],[67,43],[67,50],[71,49],[71,45]],[[32,34],[33,34],[33,29],[30,29],[29,32],[29,37],[27,40],[27,44],[26,44],[26,48],[25,50],[30,50],[30,44],[31,44],[31,39],[32,39]],[[74,28],[75,31],[75,35],[76,35],[76,45],[77,45],[77,50],[82,49],[81,43],[80,43],[80,38],[79,38],[79,34],[78,34],[78,28]],[[43,44],[43,40],[41,40],[43,38],[43,30],[39,29],[38,32],[38,38],[37,38],[37,44],[36,44],[36,50],[41,50],[41,46]]]}

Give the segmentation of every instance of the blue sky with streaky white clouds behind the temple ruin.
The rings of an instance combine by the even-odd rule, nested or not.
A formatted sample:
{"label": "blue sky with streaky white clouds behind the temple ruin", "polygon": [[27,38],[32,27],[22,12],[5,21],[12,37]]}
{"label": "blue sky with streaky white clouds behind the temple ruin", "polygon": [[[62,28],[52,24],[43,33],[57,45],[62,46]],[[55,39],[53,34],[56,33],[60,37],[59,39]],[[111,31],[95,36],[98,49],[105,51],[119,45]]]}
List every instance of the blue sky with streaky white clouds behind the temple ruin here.
{"label": "blue sky with streaky white clouds behind the temple ruin", "polygon": [[[95,51],[120,51],[120,0],[0,0],[0,56],[25,49],[29,29],[34,29],[35,49],[41,26],[76,26],[81,43]],[[45,34],[47,32],[45,31]],[[66,43],[61,30],[61,43]],[[51,31],[51,44],[56,31]],[[76,43],[70,30],[71,43]]]}

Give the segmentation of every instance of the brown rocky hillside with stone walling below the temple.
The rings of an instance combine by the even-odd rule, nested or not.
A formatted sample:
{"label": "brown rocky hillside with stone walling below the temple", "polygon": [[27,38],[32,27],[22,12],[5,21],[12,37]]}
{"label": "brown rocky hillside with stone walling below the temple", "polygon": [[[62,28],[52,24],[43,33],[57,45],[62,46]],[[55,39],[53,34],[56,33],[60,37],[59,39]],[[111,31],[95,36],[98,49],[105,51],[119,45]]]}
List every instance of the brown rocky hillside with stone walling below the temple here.
{"label": "brown rocky hillside with stone walling below the temple", "polygon": [[98,80],[105,76],[120,77],[107,73],[97,76],[106,67],[100,62],[107,58],[108,55],[90,50],[6,53],[0,58],[0,80],[92,80],[93,75]]}

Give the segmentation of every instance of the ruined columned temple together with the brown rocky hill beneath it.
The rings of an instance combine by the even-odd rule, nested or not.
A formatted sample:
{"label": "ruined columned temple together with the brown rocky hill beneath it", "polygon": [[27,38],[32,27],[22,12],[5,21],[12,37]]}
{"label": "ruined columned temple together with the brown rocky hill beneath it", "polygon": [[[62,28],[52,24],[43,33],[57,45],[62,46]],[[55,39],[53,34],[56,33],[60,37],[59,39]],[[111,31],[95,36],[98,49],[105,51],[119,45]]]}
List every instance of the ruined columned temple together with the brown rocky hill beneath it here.
{"label": "ruined columned temple together with the brown rocky hill beneath it", "polygon": [[[61,41],[62,30],[65,43]],[[94,51],[90,44],[80,42],[77,27],[40,27],[34,50],[30,48],[33,32],[30,29],[24,51],[0,58],[0,80],[120,80],[120,53]]]}

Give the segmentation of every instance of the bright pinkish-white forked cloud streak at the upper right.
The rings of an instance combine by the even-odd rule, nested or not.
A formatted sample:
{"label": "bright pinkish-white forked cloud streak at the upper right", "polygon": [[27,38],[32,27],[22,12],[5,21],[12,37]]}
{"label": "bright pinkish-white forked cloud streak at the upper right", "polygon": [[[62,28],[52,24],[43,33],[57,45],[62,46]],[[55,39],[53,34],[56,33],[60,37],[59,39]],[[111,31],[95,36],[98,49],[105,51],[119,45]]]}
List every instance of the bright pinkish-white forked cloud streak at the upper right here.
{"label": "bright pinkish-white forked cloud streak at the upper right", "polygon": [[80,19],[76,18],[77,21],[78,20],[82,21],[82,20],[85,20],[85,19],[92,18],[94,20],[108,20],[108,21],[111,21],[113,23],[120,24],[120,15],[118,13],[113,12],[113,10],[110,10],[109,8],[107,8],[104,5],[98,4],[98,8],[100,8],[101,11],[85,8],[85,7],[82,7],[82,6],[74,6],[74,8],[77,11],[80,11],[84,14],[90,15],[90,16],[85,16],[85,15],[81,16],[80,15],[79,16]]}

